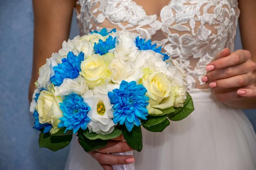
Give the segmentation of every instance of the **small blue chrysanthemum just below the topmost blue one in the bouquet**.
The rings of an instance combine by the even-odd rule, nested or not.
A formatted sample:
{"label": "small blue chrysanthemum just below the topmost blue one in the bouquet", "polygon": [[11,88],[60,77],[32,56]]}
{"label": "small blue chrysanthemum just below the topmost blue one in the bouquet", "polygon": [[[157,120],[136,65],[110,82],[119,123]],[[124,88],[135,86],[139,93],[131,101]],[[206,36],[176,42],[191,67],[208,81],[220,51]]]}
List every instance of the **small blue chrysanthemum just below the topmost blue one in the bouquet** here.
{"label": "small blue chrysanthemum just below the topmost blue one in the bouquet", "polygon": [[94,42],[94,50],[95,54],[104,55],[108,53],[108,50],[114,49],[116,47],[116,38],[113,39],[113,37],[110,35],[107,40],[104,42],[102,40],[99,40],[99,43],[96,44]]}

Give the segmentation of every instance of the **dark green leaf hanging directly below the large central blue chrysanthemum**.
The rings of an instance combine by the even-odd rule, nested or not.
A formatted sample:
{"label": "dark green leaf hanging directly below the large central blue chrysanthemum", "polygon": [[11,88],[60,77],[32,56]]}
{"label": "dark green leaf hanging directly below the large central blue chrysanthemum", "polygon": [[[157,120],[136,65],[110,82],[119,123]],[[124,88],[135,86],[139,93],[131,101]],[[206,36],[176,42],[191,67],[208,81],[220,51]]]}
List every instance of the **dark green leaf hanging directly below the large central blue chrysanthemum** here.
{"label": "dark green leaf hanging directly below the large central blue chrysanthemum", "polygon": [[141,132],[141,126],[134,126],[132,128],[132,131],[128,131],[125,126],[121,126],[124,139],[126,139],[126,142],[130,147],[132,147],[134,150],[137,150],[140,152],[142,150],[143,144],[142,144],[142,132]]}

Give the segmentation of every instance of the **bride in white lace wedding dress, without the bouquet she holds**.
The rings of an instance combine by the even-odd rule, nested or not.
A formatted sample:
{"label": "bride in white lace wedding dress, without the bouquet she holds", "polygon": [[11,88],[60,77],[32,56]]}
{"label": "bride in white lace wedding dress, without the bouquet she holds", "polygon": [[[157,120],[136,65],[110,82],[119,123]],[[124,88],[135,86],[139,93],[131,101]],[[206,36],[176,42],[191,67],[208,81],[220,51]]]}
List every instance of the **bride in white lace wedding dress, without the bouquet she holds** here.
{"label": "bride in white lace wedding dress, without the bouquet she holds", "polygon": [[[34,0],[33,6],[30,96],[38,68],[68,39],[75,7],[81,35],[117,28],[162,46],[188,74],[194,100],[186,119],[162,133],[145,130],[143,151],[134,157],[108,154],[131,150],[122,137],[89,153],[73,140],[66,170],[133,162],[137,170],[256,170],[255,132],[240,110],[256,108],[255,0]],[[234,51],[238,17],[246,50]]]}

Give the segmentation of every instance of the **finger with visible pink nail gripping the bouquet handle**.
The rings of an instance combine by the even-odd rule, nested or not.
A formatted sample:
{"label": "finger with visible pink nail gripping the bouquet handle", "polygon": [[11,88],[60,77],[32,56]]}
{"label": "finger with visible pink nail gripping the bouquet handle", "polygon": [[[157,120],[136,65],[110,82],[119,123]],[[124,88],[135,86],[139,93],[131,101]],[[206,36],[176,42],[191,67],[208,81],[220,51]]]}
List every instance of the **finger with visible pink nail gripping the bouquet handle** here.
{"label": "finger with visible pink nail gripping the bouquet handle", "polygon": [[135,162],[132,155],[112,155],[94,151],[91,156],[99,163],[108,165],[121,165]]}

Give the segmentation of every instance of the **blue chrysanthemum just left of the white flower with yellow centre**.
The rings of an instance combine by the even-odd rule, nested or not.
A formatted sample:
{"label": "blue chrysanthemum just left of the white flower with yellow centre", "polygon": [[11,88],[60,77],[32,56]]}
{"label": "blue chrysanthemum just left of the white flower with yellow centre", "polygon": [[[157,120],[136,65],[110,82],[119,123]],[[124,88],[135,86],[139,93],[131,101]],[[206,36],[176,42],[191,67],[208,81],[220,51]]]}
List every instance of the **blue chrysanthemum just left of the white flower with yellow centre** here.
{"label": "blue chrysanthemum just left of the white flower with yellow centre", "polygon": [[83,97],[79,97],[76,93],[66,95],[60,108],[63,111],[63,117],[60,118],[61,122],[58,124],[58,128],[67,127],[67,130],[72,130],[76,133],[79,128],[85,130],[87,128],[90,118],[87,117],[87,113],[91,108],[83,102]]}

